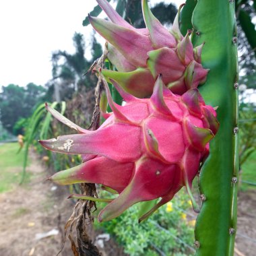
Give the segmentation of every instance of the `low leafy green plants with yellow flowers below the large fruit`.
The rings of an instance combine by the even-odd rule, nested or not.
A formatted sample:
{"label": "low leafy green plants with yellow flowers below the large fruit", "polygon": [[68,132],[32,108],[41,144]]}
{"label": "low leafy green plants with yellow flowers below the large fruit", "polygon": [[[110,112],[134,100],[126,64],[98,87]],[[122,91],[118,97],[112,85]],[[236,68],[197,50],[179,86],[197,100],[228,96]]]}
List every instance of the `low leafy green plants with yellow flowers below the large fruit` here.
{"label": "low leafy green plants with yellow flowers below the large fruit", "polygon": [[[108,222],[94,222],[94,226],[112,234],[123,246],[125,253],[131,256],[158,256],[160,253],[193,255],[195,215],[187,212],[191,201],[184,192],[181,191],[172,202],[160,207],[156,214],[144,222],[137,222],[140,205],[136,204],[118,218]],[[98,203],[98,211],[104,206],[104,203]]]}

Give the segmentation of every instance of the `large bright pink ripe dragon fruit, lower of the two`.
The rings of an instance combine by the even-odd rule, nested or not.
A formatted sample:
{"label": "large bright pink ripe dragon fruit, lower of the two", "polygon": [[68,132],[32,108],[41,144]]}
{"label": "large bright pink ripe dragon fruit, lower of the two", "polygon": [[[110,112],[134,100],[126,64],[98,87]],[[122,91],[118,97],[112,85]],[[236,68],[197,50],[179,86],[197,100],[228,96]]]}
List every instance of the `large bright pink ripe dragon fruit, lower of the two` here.
{"label": "large bright pink ripe dragon fruit, lower of the two", "polygon": [[161,75],[152,96],[145,99],[125,92],[111,79],[127,102],[119,106],[100,76],[113,112],[96,131],[78,127],[47,106],[55,118],[79,134],[43,140],[42,146],[63,154],[82,154],[84,159],[79,166],[57,172],[50,179],[61,185],[98,183],[118,193],[115,199],[105,200],[108,205],[100,212],[99,221],[119,216],[134,203],[159,198],[143,220],[181,187],[186,186],[190,193],[199,164],[209,153],[209,141],[218,131],[216,111],[205,105],[195,88],[182,96],[173,94]]}

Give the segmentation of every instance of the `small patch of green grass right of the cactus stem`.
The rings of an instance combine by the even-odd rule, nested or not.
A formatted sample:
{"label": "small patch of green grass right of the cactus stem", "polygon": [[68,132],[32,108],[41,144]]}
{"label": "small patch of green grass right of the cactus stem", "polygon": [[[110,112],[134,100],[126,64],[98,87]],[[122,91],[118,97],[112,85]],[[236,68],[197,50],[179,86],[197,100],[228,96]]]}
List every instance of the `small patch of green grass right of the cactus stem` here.
{"label": "small patch of green grass right of the cactus stem", "polygon": [[[245,163],[242,165],[242,175],[241,180],[242,181],[249,181],[250,183],[256,184],[256,151],[247,158]],[[256,185],[249,185],[246,183],[241,183],[241,189],[243,191],[247,189],[256,189]]]}

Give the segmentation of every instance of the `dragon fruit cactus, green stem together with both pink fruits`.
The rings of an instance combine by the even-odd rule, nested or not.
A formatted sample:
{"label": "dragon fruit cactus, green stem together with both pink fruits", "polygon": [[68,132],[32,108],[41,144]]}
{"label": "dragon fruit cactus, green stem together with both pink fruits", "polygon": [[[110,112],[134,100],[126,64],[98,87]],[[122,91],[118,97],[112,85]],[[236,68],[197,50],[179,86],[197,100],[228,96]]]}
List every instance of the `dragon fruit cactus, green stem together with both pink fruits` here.
{"label": "dragon fruit cactus, green stem together with both pink fruits", "polygon": [[[115,104],[110,97],[108,86],[105,86],[108,104],[113,113],[102,113],[108,119],[97,131],[77,127],[48,107],[49,112],[59,121],[82,134],[41,141],[42,145],[49,150],[65,154],[87,154],[83,157],[82,166],[59,172],[52,179],[62,184],[85,181],[102,183],[112,191],[114,189],[120,193],[114,200],[105,200],[109,204],[100,214],[100,220],[115,218],[129,205],[138,201],[162,197],[161,201],[143,216],[146,218],[163,202],[171,199],[181,186],[186,185],[191,194],[191,181],[197,173],[199,162],[205,160],[199,175],[203,203],[195,227],[197,255],[231,256],[236,232],[238,168],[238,74],[234,1],[187,0],[187,7],[184,7],[181,13],[181,31],[178,13],[170,33],[154,18],[146,0],[142,0],[142,6],[147,28],[142,30],[137,30],[122,20],[108,1],[97,1],[112,22],[92,17],[89,20],[112,44],[108,44],[108,59],[118,71],[96,71],[100,79],[104,81],[102,72],[108,82],[114,84],[127,101],[127,105],[121,107]],[[191,31],[187,33],[188,29]],[[167,52],[171,54],[164,58]],[[175,67],[177,73],[173,71]],[[208,69],[210,72],[205,82]],[[156,77],[160,73],[167,88],[175,94],[164,87],[160,78],[153,90]],[[139,100],[121,90],[113,79],[137,97],[150,96],[152,92],[153,94],[150,99]],[[203,82],[205,84],[199,87],[199,91],[207,105],[196,89],[191,90]],[[195,95],[197,96],[194,97]],[[172,104],[168,103],[168,100],[172,101]],[[174,103],[178,104],[181,110],[179,114],[175,114]],[[205,158],[208,153],[207,142],[218,129],[215,111],[210,106],[218,106],[220,130],[210,143],[210,155]],[[175,160],[168,159],[166,155],[172,154],[174,150],[179,152],[179,147],[173,149],[173,141],[168,138],[168,129],[178,120],[174,121],[173,118],[178,118],[178,123],[182,123],[183,127],[175,133],[173,131],[173,134],[182,134],[179,142],[182,141],[186,150],[193,148],[193,151],[197,151],[193,163],[195,168],[191,172],[188,171],[189,166],[181,168],[185,160],[185,148],[182,150],[183,154]],[[185,121],[187,118],[191,124]],[[155,119],[152,126],[149,125],[151,119]],[[166,125],[163,125],[164,122]],[[190,125],[193,128],[189,128]],[[155,129],[157,126],[158,129]],[[162,127],[166,129],[161,129]],[[118,139],[123,139],[125,145],[120,146]],[[110,143],[115,146],[110,147]],[[146,158],[141,162],[142,155]],[[109,166],[112,168],[108,169]],[[113,172],[120,166],[123,168],[120,179],[111,179],[112,176],[109,175],[114,176]],[[103,167],[106,167],[105,172]],[[161,185],[156,181],[158,174],[161,174],[158,168],[168,178],[163,179]],[[101,174],[99,169],[102,170]],[[175,172],[177,176],[174,175]],[[76,197],[96,200],[84,195]]]}

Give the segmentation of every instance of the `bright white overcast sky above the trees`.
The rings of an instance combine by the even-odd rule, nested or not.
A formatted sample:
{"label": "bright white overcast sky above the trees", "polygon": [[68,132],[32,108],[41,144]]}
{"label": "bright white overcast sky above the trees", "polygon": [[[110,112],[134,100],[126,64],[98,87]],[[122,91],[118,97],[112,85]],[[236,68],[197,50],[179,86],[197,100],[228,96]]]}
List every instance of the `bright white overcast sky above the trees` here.
{"label": "bright white overcast sky above the trees", "polygon": [[8,84],[46,84],[51,79],[51,54],[73,53],[75,32],[88,38],[89,53],[92,28],[82,26],[82,21],[95,5],[96,0],[0,1],[0,89]]}

